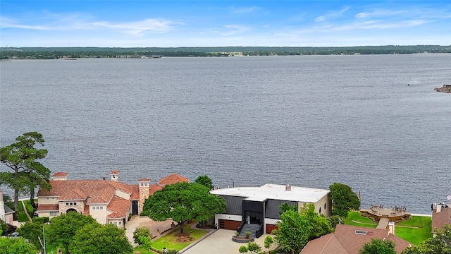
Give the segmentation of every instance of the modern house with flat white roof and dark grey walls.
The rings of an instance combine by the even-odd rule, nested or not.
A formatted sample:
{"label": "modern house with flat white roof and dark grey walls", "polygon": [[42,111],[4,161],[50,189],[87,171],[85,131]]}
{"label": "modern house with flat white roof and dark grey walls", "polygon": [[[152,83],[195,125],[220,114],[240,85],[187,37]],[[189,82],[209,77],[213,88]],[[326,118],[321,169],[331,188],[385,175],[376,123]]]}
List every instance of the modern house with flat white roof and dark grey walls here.
{"label": "modern house with flat white roof and dark grey walls", "polygon": [[210,193],[223,197],[227,211],[215,215],[219,229],[240,231],[245,224],[254,224],[256,237],[270,234],[280,220],[278,207],[283,203],[297,205],[314,204],[315,212],[329,217],[331,212],[330,191],[317,188],[265,184],[260,187],[223,188]]}

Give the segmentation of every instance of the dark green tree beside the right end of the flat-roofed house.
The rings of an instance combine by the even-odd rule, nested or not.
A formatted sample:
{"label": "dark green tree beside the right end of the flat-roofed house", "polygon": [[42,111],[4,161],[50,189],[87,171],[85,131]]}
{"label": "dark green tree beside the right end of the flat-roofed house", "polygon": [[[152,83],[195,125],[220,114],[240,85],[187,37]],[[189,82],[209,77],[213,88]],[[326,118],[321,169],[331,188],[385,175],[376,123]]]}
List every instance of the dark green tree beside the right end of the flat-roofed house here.
{"label": "dark green tree beside the right end of the flat-roofed house", "polygon": [[332,200],[332,215],[347,218],[350,210],[359,210],[360,200],[352,188],[342,183],[333,183],[329,186]]}

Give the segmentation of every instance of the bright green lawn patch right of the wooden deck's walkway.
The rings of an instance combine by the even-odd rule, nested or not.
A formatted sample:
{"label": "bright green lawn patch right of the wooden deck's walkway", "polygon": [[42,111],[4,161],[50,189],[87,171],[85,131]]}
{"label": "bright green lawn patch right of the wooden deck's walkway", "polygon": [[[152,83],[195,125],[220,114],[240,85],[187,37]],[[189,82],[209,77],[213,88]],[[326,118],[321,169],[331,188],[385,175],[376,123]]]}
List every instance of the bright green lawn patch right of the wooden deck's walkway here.
{"label": "bright green lawn patch right of the wooden deck's walkway", "polygon": [[422,241],[432,237],[431,217],[412,216],[412,219],[399,222],[395,226],[395,235],[418,246]]}

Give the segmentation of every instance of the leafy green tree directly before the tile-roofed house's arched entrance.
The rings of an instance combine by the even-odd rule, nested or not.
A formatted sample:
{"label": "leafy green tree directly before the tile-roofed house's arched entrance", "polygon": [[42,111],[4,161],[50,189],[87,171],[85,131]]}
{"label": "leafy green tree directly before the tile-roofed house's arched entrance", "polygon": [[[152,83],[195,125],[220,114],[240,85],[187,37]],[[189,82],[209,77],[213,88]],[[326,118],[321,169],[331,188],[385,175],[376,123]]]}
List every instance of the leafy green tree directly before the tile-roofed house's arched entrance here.
{"label": "leafy green tree directly before the tile-roofed house's arched entrance", "polygon": [[69,244],[73,236],[87,224],[97,224],[97,222],[91,216],[78,214],[77,212],[68,212],[67,214],[53,217],[50,220],[50,224],[45,228],[46,240],[54,244],[54,246],[64,248],[66,254],[70,254]]}

